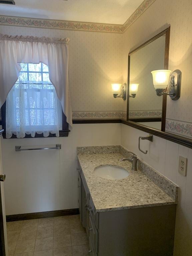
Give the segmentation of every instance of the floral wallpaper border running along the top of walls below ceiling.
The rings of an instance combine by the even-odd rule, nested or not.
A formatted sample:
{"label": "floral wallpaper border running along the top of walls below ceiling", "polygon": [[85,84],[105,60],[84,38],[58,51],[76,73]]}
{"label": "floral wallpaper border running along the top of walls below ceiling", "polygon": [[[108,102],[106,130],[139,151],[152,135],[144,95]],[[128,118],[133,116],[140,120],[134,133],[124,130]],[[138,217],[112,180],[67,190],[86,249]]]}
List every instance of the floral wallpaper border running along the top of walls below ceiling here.
{"label": "floral wallpaper border running along the top of walls below ceiling", "polygon": [[154,2],[155,0],[144,0],[137,10],[123,24],[105,24],[92,22],[77,22],[66,20],[49,20],[37,18],[24,18],[16,16],[0,16],[0,25],[49,28],[63,30],[79,30],[91,32],[124,33],[128,27]]}

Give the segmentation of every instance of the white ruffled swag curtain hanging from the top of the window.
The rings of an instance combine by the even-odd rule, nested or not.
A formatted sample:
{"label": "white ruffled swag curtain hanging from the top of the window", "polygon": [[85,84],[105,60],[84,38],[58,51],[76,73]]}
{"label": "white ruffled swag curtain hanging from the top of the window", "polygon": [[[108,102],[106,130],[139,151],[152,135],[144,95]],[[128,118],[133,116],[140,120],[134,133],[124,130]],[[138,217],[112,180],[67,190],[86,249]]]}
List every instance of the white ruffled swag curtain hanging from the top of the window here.
{"label": "white ruffled swag curtain hanging from the top of the window", "polygon": [[19,63],[44,63],[67,122],[72,126],[68,82],[69,38],[8,36],[0,34],[0,108],[19,77]]}

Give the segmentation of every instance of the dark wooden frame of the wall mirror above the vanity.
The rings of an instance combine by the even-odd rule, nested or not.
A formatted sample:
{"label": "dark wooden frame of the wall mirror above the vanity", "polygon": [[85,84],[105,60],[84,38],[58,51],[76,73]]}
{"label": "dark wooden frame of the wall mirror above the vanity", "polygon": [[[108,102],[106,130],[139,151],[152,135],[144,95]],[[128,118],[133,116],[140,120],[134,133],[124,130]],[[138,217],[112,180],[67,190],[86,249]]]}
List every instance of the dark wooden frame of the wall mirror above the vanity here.
{"label": "dark wooden frame of the wall mirror above the vanity", "polygon": [[[141,48],[145,47],[146,45],[150,44],[151,42],[155,41],[160,36],[165,35],[165,58],[164,58],[164,69],[168,69],[169,65],[169,38],[170,38],[170,26],[163,30],[161,33],[157,34],[156,36],[149,39],[147,42],[143,43],[142,45],[138,46],[136,49],[129,52],[128,55],[128,79],[127,79],[127,93],[129,93],[129,83],[130,83],[130,56],[140,50]],[[165,131],[165,119],[166,119],[166,106],[167,106],[167,96],[163,95],[162,101],[162,117],[160,118],[138,118],[138,119],[129,119],[129,97],[127,97],[127,121],[132,122],[154,122],[161,120],[161,131]],[[141,124],[137,124],[141,125]],[[146,126],[148,127],[148,126]]]}

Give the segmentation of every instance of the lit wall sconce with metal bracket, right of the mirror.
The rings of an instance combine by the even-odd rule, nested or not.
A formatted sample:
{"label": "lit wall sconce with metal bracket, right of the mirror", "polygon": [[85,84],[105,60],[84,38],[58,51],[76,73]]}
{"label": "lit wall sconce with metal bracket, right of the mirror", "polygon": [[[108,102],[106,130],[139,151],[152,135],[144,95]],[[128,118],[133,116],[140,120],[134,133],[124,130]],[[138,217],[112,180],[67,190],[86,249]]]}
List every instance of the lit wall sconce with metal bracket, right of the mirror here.
{"label": "lit wall sconce with metal bracket, right of the mirror", "polygon": [[[169,95],[172,100],[178,100],[181,93],[181,71],[174,70],[154,70],[153,85],[158,96]],[[164,92],[165,88],[167,90]]]}

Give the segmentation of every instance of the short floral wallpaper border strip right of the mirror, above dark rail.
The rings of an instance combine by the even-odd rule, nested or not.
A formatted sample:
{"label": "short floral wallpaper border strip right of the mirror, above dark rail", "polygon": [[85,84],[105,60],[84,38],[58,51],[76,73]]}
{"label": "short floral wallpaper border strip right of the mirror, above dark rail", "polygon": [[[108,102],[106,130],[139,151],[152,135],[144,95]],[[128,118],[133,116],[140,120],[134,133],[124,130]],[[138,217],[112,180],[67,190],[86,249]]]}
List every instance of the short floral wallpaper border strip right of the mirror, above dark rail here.
{"label": "short floral wallpaper border strip right of the mirror, above dark rail", "polygon": [[165,131],[192,139],[192,122],[166,118]]}

